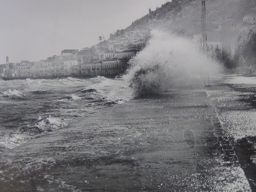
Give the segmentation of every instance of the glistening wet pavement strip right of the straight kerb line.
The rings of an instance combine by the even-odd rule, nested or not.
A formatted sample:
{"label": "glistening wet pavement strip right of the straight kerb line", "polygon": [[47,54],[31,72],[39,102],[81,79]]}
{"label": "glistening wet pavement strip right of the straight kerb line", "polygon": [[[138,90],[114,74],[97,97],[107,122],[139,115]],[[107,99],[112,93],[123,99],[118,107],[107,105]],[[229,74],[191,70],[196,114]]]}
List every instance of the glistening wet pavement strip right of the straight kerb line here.
{"label": "glistening wet pavement strip right of the straight kerb line", "polygon": [[252,191],[256,191],[256,78],[224,76],[207,88]]}

